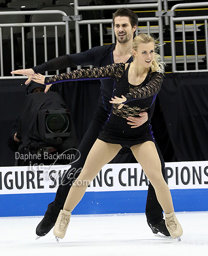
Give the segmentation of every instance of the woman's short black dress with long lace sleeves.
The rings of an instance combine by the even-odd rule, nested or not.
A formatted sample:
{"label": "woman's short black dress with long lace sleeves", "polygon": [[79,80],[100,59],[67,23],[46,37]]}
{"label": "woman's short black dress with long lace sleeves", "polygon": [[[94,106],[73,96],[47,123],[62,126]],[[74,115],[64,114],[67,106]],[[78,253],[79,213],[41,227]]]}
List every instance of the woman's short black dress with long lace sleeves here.
{"label": "woman's short black dress with long lace sleeves", "polygon": [[125,70],[125,64],[120,63],[94,69],[75,70],[46,78],[45,84],[82,79],[113,78],[115,82],[112,97],[121,98],[121,95],[124,95],[127,101],[124,102],[121,109],[118,109],[120,104],[112,104],[110,116],[98,139],[130,148],[145,141],[154,141],[150,121],[132,129],[127,124],[126,118],[128,116],[139,117],[139,113],[147,111],[152,106],[156,94],[161,88],[163,76],[158,72],[151,73],[150,69],[142,84],[135,86],[128,82],[129,67],[130,65]]}

